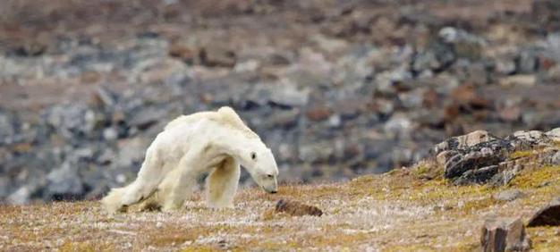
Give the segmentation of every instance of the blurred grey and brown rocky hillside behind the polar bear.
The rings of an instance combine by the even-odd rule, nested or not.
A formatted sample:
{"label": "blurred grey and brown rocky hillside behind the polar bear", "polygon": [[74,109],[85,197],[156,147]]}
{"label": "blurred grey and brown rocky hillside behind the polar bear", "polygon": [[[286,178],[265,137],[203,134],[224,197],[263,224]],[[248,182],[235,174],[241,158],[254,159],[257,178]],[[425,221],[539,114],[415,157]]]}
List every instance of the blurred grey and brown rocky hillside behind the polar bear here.
{"label": "blurred grey and brown rocky hillside behind the polar bear", "polygon": [[[2,1],[0,202],[98,198],[134,178],[165,122],[221,105],[285,182],[410,166],[473,130],[493,134],[492,155],[434,151],[454,183],[490,180],[511,170],[506,136],[560,126],[558,13],[554,0]],[[474,159],[485,175],[465,170]]]}

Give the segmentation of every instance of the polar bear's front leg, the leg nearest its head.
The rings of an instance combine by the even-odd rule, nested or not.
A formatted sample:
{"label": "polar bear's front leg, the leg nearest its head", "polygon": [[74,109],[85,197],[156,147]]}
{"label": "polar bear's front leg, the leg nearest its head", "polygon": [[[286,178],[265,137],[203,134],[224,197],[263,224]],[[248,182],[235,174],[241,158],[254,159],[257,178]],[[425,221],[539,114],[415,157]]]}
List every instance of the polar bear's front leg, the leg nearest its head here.
{"label": "polar bear's front leg, the leg nearest its head", "polygon": [[232,157],[218,164],[206,180],[208,207],[233,207],[233,197],[237,191],[240,175],[240,165]]}

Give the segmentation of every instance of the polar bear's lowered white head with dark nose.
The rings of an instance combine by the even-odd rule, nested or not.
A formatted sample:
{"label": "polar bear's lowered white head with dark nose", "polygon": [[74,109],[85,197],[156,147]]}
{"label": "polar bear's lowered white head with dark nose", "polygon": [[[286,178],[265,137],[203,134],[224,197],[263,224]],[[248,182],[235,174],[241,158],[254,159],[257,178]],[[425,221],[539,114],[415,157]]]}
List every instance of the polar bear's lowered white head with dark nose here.
{"label": "polar bear's lowered white head with dark nose", "polygon": [[250,173],[253,180],[267,193],[278,190],[278,167],[272,151],[262,143],[244,148],[240,163]]}

